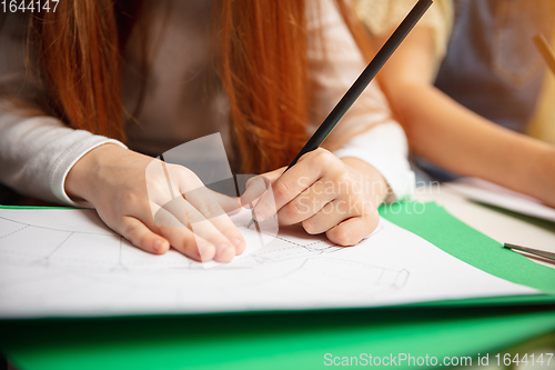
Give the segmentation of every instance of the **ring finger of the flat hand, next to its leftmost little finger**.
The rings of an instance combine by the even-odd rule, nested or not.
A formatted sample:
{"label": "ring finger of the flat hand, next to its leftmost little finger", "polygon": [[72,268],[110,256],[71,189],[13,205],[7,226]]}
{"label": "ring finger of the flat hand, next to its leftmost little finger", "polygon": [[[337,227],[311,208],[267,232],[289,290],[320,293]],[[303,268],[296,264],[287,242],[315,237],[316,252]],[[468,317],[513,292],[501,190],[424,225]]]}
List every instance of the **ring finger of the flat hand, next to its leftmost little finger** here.
{"label": "ring finger of the flat hand, next to its leftmost little finger", "polygon": [[164,208],[151,204],[155,211],[155,230],[163,236],[170,244],[182,254],[196,261],[208,262],[214,259],[216,249],[208,240],[195,236],[189,228],[180,222],[175,216]]}

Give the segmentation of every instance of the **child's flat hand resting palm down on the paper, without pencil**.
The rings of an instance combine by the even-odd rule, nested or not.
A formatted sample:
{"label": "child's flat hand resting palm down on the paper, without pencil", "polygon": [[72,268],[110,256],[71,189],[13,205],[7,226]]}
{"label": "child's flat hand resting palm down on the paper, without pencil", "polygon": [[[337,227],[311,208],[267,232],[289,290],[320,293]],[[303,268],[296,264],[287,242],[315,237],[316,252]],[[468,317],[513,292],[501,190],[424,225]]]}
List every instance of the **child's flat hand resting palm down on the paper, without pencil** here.
{"label": "child's flat hand resting palm down on the paper, without pencil", "polygon": [[108,227],[151,253],[164,253],[171,246],[199,261],[229,262],[245,248],[226,214],[241,207],[238,198],[204,188],[184,167],[115,144],[83,156],[68,173],[65,191],[90,202]]}

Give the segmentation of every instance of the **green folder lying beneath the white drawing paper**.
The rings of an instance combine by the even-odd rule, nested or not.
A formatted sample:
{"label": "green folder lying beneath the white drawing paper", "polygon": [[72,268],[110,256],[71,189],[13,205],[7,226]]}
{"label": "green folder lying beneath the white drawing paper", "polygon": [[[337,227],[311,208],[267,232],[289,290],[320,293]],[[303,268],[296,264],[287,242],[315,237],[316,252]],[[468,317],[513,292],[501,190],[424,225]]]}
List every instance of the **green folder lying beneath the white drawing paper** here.
{"label": "green folder lying beneath the white drawing paper", "polygon": [[546,294],[374,309],[0,321],[0,350],[21,370],[320,369],[330,368],[326,353],[475,361],[478,353],[555,331],[553,269],[503,249],[435,203],[386,206],[381,214],[466,263]]}

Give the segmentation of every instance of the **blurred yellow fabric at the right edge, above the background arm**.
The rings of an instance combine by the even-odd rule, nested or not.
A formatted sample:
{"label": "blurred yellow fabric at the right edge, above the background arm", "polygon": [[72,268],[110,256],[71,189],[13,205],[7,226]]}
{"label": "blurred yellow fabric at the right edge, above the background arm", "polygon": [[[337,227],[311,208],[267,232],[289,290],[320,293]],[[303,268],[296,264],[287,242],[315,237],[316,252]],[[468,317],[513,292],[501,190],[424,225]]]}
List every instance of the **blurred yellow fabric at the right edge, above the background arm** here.
{"label": "blurred yellow fabric at the right edge, above the background arm", "polygon": [[[552,46],[555,46],[555,30]],[[555,74],[551,69],[545,73],[544,87],[528,126],[528,134],[555,144]]]}

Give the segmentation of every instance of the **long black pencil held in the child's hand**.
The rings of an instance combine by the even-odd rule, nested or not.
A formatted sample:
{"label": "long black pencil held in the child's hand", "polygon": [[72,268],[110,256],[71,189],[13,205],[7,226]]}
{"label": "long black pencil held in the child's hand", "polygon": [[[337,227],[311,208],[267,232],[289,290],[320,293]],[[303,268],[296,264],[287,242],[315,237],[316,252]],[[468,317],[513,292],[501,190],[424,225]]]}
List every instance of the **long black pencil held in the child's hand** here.
{"label": "long black pencil held in the child's hand", "polygon": [[[353,86],[345,92],[340,102],[333,108],[331,113],[326,117],[324,122],[319,127],[316,132],[310,138],[303,149],[296,154],[291,164],[285,169],[287,171],[290,168],[296,164],[299,159],[317,149],[322,142],[327,138],[332,130],[337,126],[343,116],[349,111],[353,103],[359,99],[361,93],[366,89],[366,87],[372,82],[377,72],[382,69],[390,57],[397,50],[398,46],[408,36],[414,26],[424,16],[427,9],[432,6],[433,0],[420,0],[414,8],[411,10],[408,16],[401,22],[393,34],[387,39],[382,49],[376,53],[376,56],[369,63],[366,69],[361,73],[361,76],[354,81]],[[254,218],[246,226],[250,228],[254,222]]]}

